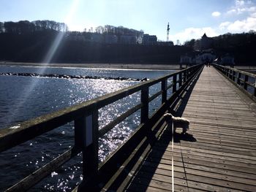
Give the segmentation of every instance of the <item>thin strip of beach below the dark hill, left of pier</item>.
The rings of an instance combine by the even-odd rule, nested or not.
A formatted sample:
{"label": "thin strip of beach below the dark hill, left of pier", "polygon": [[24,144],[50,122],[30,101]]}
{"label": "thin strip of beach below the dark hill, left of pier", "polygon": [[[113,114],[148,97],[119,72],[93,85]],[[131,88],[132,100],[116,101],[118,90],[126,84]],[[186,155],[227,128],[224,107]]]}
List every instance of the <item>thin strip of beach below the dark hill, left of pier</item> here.
{"label": "thin strip of beach below the dark hill, left of pier", "polygon": [[0,61],[0,66],[39,66],[39,67],[63,67],[63,68],[93,68],[93,69],[144,69],[144,70],[179,70],[179,65],[171,64],[43,64],[43,63],[25,63]]}

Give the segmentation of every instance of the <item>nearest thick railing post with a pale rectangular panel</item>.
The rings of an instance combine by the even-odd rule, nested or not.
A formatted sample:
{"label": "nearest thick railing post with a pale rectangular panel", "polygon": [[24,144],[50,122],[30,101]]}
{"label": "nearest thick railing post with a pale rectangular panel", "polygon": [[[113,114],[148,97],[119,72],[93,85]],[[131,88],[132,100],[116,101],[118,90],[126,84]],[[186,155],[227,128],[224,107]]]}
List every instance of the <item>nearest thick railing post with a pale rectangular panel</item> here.
{"label": "nearest thick railing post with a pale rectangular panel", "polygon": [[83,178],[94,188],[98,174],[98,110],[75,120],[75,147],[83,152]]}

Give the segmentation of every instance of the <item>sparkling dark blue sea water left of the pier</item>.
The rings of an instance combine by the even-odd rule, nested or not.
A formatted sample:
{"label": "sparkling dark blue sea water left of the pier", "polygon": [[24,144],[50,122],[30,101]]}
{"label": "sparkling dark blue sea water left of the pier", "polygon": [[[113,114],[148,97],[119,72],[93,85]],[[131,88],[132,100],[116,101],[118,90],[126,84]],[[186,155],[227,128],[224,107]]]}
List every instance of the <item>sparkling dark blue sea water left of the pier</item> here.
{"label": "sparkling dark blue sea water left of the pier", "polygon": [[[37,72],[45,74],[90,75],[100,77],[129,77],[154,79],[171,71],[113,70],[113,69],[67,69],[41,67],[1,66],[0,72]],[[0,75],[0,128],[79,104],[135,85],[139,82],[118,80],[80,80],[48,77],[16,77]],[[151,95],[159,91],[160,85],[150,88]],[[140,102],[140,93],[116,101],[99,110],[99,128]],[[151,102],[150,113],[161,100]],[[140,111],[118,124],[105,137],[99,139],[99,160],[124,142],[140,122]],[[73,122],[0,153],[0,191],[26,177],[38,167],[56,158],[74,145]],[[52,172],[31,191],[70,191],[83,179],[80,155],[61,169]]]}

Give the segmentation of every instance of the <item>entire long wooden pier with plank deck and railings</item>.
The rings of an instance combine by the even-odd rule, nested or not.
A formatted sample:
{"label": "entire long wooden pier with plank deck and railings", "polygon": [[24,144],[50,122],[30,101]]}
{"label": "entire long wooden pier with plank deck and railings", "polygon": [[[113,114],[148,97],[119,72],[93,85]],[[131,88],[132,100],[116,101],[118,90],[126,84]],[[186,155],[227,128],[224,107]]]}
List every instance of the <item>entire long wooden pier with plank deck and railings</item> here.
{"label": "entire long wooden pier with plank deck and railings", "polygon": [[[16,130],[0,130],[1,152],[75,121],[75,146],[7,191],[26,191],[80,151],[86,180],[74,191],[256,191],[256,88],[248,80],[252,74],[215,66],[193,66],[30,120]],[[157,83],[161,91],[149,96],[148,88]],[[247,93],[249,86],[253,93]],[[138,91],[140,104],[98,129],[101,107]],[[162,96],[162,106],[149,117],[148,103],[157,96]],[[138,129],[98,165],[98,138],[139,109]],[[191,122],[187,134],[177,130],[173,146],[165,112]]]}

